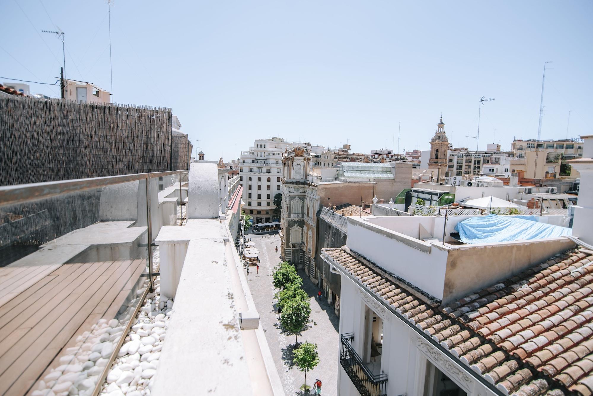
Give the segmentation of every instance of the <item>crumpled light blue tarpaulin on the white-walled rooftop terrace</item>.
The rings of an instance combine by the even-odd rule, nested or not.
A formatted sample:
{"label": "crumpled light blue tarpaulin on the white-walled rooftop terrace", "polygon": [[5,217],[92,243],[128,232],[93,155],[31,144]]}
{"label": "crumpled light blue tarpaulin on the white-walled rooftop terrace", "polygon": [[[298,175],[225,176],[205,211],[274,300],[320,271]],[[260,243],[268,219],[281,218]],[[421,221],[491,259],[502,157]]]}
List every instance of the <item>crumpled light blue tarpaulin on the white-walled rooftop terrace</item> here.
{"label": "crumpled light blue tarpaulin on the white-walled rooftop terrace", "polygon": [[557,238],[571,235],[572,229],[540,223],[535,216],[476,216],[455,226],[466,244],[509,242],[517,239]]}

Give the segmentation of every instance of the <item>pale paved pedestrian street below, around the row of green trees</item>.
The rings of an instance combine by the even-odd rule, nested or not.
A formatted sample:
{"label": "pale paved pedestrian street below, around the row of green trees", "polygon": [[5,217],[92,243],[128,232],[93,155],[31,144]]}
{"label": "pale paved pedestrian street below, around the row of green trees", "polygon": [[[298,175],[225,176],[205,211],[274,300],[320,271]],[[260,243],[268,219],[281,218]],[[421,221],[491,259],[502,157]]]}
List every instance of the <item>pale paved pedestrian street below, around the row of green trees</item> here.
{"label": "pale paved pedestrian street below, around the row of green trees", "polygon": [[[259,274],[256,274],[254,267],[249,273],[249,287],[257,311],[260,314],[263,330],[266,334],[267,343],[270,346],[276,368],[282,381],[286,395],[302,394],[299,389],[305,379],[305,373],[299,371],[291,364],[292,348],[295,344],[294,335],[284,334],[279,327],[278,314],[274,308],[274,293],[276,290],[272,285],[272,272],[274,266],[280,262],[280,253],[275,252],[275,247],[280,250],[280,239],[276,235],[246,235],[256,243],[260,251],[259,257],[262,260]],[[267,237],[267,238],[266,238]],[[321,297],[319,301],[316,296],[318,292],[315,285],[307,274],[299,270],[303,278],[303,288],[310,296],[311,301],[311,324],[307,330],[298,336],[299,343],[309,341],[317,344],[319,353],[319,365],[307,373],[307,385],[313,386],[316,378],[321,379],[323,396],[334,396],[337,394],[337,368],[339,355],[339,318],[334,314],[333,306],[327,303],[327,299]]]}

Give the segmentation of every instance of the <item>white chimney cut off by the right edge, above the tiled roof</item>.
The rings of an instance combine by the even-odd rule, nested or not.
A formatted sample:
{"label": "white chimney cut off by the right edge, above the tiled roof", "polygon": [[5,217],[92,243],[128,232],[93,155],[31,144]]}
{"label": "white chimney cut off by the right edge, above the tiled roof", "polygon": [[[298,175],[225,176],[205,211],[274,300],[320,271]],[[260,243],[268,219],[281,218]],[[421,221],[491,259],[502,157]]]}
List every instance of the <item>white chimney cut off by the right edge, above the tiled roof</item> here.
{"label": "white chimney cut off by the right edge, above the tiled roof", "polygon": [[572,236],[593,245],[593,135],[581,136],[584,140],[583,158],[568,161],[581,174],[578,206],[572,222]]}

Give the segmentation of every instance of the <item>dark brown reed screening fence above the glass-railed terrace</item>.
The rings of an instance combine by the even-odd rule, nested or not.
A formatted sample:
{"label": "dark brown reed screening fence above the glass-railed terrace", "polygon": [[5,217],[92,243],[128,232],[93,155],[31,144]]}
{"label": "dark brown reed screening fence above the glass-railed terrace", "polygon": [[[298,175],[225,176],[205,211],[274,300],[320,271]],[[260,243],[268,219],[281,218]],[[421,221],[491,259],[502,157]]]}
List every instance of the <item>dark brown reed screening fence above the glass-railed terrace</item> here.
{"label": "dark brown reed screening fence above the glass-railed terrace", "polygon": [[170,108],[0,98],[0,186],[187,169],[181,136]]}

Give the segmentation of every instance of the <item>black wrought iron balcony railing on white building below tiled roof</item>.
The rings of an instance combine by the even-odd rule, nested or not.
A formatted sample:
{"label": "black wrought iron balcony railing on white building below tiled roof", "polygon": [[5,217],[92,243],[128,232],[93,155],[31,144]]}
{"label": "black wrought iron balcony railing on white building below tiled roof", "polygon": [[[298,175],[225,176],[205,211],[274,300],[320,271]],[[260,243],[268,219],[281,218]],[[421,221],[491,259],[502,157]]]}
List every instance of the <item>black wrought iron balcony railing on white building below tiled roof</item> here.
{"label": "black wrought iron balcony railing on white building below tiled roof", "polygon": [[340,364],[362,396],[387,396],[387,374],[373,374],[352,347],[354,334],[342,334]]}

